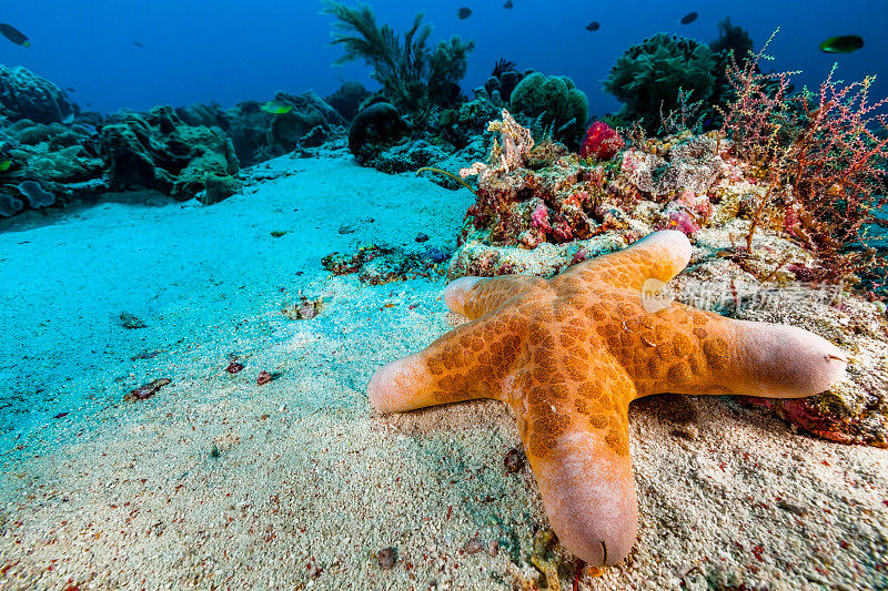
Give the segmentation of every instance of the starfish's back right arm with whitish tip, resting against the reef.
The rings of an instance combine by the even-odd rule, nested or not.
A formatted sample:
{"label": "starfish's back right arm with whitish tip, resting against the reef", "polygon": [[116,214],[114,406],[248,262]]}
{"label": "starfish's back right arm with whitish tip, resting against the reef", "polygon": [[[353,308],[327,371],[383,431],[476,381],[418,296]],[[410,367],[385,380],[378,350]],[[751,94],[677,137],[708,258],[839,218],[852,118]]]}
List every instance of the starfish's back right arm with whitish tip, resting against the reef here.
{"label": "starfish's back right arm with whitish tip, resting against the reef", "polygon": [[639,291],[646,279],[668,282],[690,261],[690,242],[677,230],[655,232],[626,249],[572,266],[553,282],[577,276],[595,278],[625,289]]}

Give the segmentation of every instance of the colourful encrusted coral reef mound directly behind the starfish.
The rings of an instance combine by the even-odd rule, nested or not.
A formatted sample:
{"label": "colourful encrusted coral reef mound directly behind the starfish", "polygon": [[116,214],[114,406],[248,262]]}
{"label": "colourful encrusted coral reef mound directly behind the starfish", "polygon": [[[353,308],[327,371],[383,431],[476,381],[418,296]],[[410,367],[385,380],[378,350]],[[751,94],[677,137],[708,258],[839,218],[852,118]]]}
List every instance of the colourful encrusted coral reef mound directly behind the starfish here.
{"label": "colourful encrusted coral reef mound directly behind the starfish", "polygon": [[[718,132],[636,139],[613,161],[591,164],[557,144],[534,144],[506,115],[493,123],[502,136],[487,162],[461,171],[478,175],[477,198],[448,278],[548,277],[656,230],[679,230],[695,244],[675,286],[679,300],[729,317],[803,326],[852,353],[848,380],[804,403],[767,405],[810,432],[884,445],[884,308],[846,293],[847,286],[809,283],[821,252],[793,231],[805,213],[793,205],[791,186],[773,191]],[[841,302],[825,302],[836,289]],[[714,297],[707,305],[700,294]],[[849,326],[857,328],[849,333]]]}

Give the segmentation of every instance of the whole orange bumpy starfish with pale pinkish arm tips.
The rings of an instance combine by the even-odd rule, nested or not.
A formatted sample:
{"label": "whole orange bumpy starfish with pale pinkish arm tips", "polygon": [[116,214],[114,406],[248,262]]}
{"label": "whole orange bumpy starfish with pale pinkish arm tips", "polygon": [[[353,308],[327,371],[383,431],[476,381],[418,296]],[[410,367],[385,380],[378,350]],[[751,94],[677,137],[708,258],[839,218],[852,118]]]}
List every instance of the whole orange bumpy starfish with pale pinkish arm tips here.
{"label": "whole orange bumpy starfish with pale pinkish arm tips", "polygon": [[632,400],[666,391],[809,396],[846,367],[841,350],[799,328],[678,303],[646,312],[645,279],[667,282],[689,257],[685,235],[665,231],[552,279],[456,279],[445,300],[472,322],[380,368],[370,401],[381,412],[507,403],[562,544],[589,564],[617,563],[638,520]]}

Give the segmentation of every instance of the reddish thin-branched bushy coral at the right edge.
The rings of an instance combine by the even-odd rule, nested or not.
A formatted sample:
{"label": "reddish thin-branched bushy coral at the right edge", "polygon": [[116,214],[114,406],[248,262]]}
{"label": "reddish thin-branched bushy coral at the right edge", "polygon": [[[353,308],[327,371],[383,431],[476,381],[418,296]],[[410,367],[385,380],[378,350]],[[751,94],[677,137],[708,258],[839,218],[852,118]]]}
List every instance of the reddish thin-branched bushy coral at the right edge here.
{"label": "reddish thin-branched bushy coral at the right edge", "polygon": [[886,204],[888,99],[870,103],[874,79],[846,84],[835,80],[835,67],[818,92],[793,94],[790,72],[759,72],[766,48],[728,71],[737,98],[724,131],[736,154],[755,166],[768,200],[791,188],[786,230],[817,252],[820,268],[810,269],[811,278],[884,267],[885,252],[868,244],[867,231]]}

